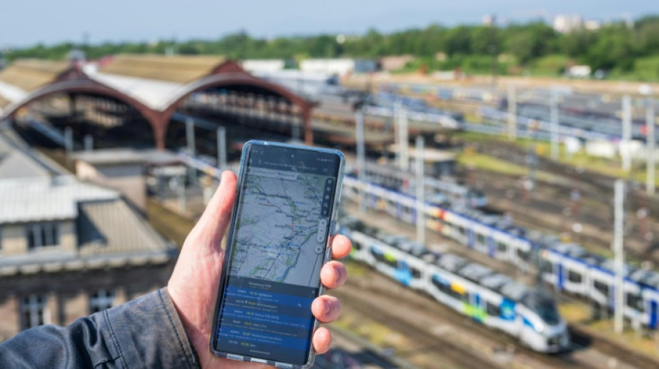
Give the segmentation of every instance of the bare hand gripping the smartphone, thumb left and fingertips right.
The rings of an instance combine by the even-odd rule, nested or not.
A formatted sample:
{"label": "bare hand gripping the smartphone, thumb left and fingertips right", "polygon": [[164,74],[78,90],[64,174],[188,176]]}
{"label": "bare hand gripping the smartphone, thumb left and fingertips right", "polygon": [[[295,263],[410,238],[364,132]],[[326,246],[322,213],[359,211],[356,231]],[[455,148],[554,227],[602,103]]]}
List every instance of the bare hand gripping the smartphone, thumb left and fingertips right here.
{"label": "bare hand gripping the smartphone, thumb left and fingertips right", "polygon": [[[216,357],[209,350],[213,314],[222,276],[224,250],[221,248],[231,219],[236,195],[236,175],[222,173],[220,186],[206,206],[199,222],[185,239],[167,289],[176,306],[185,332],[196,350],[202,368],[256,368],[248,363]],[[337,235],[332,240],[332,258],[340,259],[350,253],[348,238]],[[348,272],[341,262],[330,261],[320,270],[320,281],[327,288],[343,285]],[[320,296],[311,304],[311,312],[319,321],[329,323],[339,317],[341,303],[333,296]],[[330,349],[330,332],[320,327],[312,340],[316,353]]]}

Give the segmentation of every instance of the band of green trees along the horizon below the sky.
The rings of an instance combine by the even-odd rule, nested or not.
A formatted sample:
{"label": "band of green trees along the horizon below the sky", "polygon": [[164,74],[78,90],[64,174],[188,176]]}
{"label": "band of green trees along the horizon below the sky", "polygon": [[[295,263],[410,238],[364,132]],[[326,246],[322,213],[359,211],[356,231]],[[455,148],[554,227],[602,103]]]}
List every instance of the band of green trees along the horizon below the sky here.
{"label": "band of green trees along the horizon below the sky", "polygon": [[[219,39],[191,39],[185,42],[160,41],[97,44],[82,47],[87,57],[96,59],[117,53],[166,53],[225,55],[231,58],[304,57],[382,57],[415,55],[418,59],[406,66],[416,71],[424,66],[429,71],[460,68],[468,73],[506,73],[511,66],[523,66],[532,73],[556,75],[567,64],[588,64],[593,70],[604,69],[610,75],[634,75],[656,80],[656,58],[659,57],[659,16],[637,19],[632,28],[623,23],[608,24],[599,30],[575,30],[559,34],[542,22],[511,24],[504,28],[489,26],[456,26],[445,28],[431,24],[394,33],[380,33],[375,28],[364,35],[347,35],[339,43],[334,34],[315,36],[252,37],[244,31]],[[63,43],[55,46],[37,44],[29,48],[9,50],[8,60],[38,57],[61,60],[79,45]],[[435,59],[437,53],[446,60]],[[497,55],[511,55],[512,62],[497,61]]]}

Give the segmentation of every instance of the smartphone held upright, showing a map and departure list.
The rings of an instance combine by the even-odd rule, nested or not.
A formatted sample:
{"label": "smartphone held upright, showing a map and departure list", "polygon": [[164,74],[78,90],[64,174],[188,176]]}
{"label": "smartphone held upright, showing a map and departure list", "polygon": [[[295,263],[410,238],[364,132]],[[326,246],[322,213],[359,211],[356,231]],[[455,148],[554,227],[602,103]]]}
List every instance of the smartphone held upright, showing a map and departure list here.
{"label": "smartphone held upright, showing a map and departure list", "polygon": [[309,368],[343,165],[339,150],[266,141],[243,147],[210,348],[282,368]]}

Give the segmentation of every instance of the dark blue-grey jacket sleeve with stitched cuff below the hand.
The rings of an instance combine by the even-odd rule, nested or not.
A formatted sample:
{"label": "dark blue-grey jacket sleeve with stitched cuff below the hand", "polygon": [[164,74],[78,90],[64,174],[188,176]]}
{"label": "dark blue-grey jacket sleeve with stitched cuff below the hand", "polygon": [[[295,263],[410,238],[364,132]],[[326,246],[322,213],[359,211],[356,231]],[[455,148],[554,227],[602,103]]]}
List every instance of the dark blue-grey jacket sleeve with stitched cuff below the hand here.
{"label": "dark blue-grey jacket sleeve with stitched cuff below the hand", "polygon": [[0,368],[200,368],[166,288],[0,344]]}

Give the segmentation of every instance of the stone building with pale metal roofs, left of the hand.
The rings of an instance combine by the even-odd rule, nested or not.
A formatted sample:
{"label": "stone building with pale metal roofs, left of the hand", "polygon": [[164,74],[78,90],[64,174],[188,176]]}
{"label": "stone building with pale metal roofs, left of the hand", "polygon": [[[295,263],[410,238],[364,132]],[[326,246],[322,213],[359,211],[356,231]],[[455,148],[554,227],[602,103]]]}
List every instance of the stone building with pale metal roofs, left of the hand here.
{"label": "stone building with pale metal roofs, left of the hand", "polygon": [[[23,154],[5,161],[30,157]],[[119,192],[33,168],[9,175],[6,164],[0,161],[0,341],[36,325],[67,325],[166,284],[178,251]]]}

